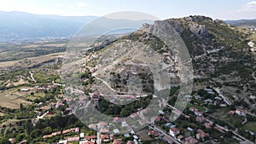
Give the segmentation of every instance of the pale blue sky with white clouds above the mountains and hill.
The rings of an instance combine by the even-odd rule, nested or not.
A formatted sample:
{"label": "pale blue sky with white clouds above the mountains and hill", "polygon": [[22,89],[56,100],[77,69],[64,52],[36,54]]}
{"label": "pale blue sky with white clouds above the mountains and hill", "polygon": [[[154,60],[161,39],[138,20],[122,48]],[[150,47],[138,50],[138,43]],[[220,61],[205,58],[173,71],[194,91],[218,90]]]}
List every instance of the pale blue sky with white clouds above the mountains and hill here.
{"label": "pale blue sky with white clouds above the mountains and hill", "polygon": [[62,16],[102,16],[137,11],[161,20],[195,14],[238,20],[256,19],[256,0],[0,0],[0,11]]}

